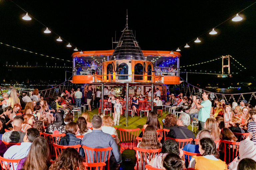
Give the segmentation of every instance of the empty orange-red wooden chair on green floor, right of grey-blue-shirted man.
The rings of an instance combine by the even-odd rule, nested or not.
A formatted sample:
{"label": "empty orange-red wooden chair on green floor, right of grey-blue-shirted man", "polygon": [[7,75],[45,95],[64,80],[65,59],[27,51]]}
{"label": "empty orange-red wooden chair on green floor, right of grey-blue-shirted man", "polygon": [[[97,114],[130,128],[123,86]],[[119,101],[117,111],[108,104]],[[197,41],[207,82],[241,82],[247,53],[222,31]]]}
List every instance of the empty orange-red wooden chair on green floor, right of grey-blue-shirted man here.
{"label": "empty orange-red wooden chair on green floor, right of grey-blue-shirted man", "polygon": [[[125,149],[133,149],[137,146],[136,137],[139,135],[140,128],[136,129],[123,129],[119,128],[120,131],[120,152],[122,153]],[[131,133],[130,133],[131,132]]]}

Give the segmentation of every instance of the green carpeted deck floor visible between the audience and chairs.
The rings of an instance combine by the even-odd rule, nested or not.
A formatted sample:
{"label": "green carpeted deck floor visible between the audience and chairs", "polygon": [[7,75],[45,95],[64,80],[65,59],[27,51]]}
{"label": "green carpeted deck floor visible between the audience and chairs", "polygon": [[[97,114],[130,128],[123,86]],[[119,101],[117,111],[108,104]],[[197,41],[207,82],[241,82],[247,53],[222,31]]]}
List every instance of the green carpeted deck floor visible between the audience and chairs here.
{"label": "green carpeted deck floor visible between the audience and chairs", "polygon": [[[93,115],[98,114],[98,108],[92,109],[92,111],[88,112],[88,113],[89,113],[90,119],[91,119]],[[163,112],[162,112],[163,117],[161,117],[161,115],[158,115],[158,120],[162,126],[163,126],[163,124],[162,124],[161,120],[164,119],[167,114],[168,114],[168,111],[166,110],[166,112],[164,112],[164,110],[163,110]],[[77,118],[75,118],[75,122],[76,122],[76,119]],[[112,115],[112,119],[113,119],[113,115]],[[126,129],[134,129],[134,128],[141,129],[143,127],[143,125],[146,123],[146,120],[147,120],[147,117],[145,117],[144,114],[142,114],[141,118],[140,118],[140,116],[136,116],[136,115],[133,118],[131,116],[128,116],[128,126],[126,127],[125,116],[123,115],[120,117],[119,126],[114,126],[114,127],[126,128]],[[191,126],[188,126],[188,128],[190,130],[192,129]],[[194,134],[196,135],[197,134],[196,132],[198,132],[198,130],[196,132],[195,132],[195,128],[193,130],[194,130]],[[141,130],[139,131],[139,133],[140,132],[141,132]],[[120,132],[118,129],[117,129],[117,133],[119,136]],[[119,137],[119,139],[120,139],[120,137]],[[125,161],[125,159],[131,159],[131,161]],[[122,152],[122,163],[120,164],[120,170],[133,170],[135,163],[136,163],[135,151],[129,150],[129,149],[124,150]]]}

